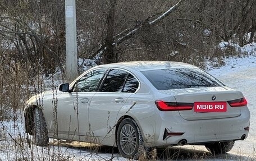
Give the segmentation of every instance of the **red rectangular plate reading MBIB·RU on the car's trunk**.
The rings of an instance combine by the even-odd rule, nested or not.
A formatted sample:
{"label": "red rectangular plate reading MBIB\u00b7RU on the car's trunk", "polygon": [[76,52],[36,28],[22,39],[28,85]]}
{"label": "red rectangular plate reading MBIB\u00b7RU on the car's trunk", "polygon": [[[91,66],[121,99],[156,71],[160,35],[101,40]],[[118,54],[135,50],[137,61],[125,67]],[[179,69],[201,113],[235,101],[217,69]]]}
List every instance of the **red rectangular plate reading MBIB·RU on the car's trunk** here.
{"label": "red rectangular plate reading MBIB\u00b7RU on the car's trunk", "polygon": [[226,102],[195,102],[194,112],[227,112]]}

